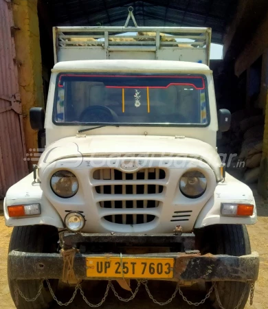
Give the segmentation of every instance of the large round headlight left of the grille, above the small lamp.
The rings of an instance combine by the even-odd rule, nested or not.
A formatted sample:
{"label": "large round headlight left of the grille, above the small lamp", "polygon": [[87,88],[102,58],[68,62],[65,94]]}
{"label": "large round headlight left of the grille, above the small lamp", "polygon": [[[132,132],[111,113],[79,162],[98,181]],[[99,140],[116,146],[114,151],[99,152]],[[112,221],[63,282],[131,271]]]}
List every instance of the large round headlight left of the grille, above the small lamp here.
{"label": "large round headlight left of the grille, above the small lamp", "polygon": [[61,198],[70,198],[78,192],[78,180],[69,170],[58,170],[52,175],[50,185],[53,192]]}

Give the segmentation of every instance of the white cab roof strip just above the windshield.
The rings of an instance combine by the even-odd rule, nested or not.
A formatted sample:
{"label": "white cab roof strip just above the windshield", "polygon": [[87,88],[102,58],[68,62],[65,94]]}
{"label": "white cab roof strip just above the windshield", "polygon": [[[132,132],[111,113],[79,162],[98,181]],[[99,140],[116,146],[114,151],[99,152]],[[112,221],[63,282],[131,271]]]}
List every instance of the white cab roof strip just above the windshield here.
{"label": "white cab roof strip just above the windshield", "polygon": [[73,60],[62,61],[54,65],[52,71],[205,71],[208,65],[196,62],[171,60]]}

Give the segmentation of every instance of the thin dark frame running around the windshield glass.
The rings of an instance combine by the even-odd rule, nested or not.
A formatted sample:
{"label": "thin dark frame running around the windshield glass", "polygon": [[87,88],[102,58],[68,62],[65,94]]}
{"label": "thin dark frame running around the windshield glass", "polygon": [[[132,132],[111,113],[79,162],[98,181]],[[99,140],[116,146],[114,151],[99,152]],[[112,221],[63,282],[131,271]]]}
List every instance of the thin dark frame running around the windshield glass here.
{"label": "thin dark frame running around the windshield glass", "polygon": [[75,75],[85,75],[85,76],[198,76],[203,78],[203,82],[205,84],[205,108],[206,108],[206,115],[208,121],[205,124],[191,124],[191,123],[121,123],[121,122],[113,122],[113,126],[135,126],[135,127],[164,127],[164,128],[182,128],[182,127],[197,127],[197,128],[205,128],[207,126],[210,126],[210,98],[208,95],[208,80],[205,74],[202,73],[129,73],[129,72],[69,72],[69,71],[63,71],[59,72],[56,76],[56,84],[55,84],[55,92],[54,92],[54,102],[53,102],[53,112],[52,112],[52,122],[56,126],[109,126],[111,125],[111,122],[58,122],[56,121],[56,106],[57,106],[57,98],[58,98],[58,84],[60,82],[60,76],[62,75],[68,75],[71,74],[71,76]]}

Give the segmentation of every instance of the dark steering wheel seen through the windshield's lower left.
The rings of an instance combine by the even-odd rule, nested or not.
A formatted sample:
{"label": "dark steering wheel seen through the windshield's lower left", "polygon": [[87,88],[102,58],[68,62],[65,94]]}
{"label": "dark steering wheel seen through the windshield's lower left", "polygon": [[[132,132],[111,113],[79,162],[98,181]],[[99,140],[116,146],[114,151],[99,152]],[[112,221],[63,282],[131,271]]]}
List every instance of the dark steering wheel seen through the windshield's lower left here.
{"label": "dark steering wheel seen through the windshield's lower left", "polygon": [[118,115],[107,106],[93,105],[82,111],[80,122],[118,122]]}

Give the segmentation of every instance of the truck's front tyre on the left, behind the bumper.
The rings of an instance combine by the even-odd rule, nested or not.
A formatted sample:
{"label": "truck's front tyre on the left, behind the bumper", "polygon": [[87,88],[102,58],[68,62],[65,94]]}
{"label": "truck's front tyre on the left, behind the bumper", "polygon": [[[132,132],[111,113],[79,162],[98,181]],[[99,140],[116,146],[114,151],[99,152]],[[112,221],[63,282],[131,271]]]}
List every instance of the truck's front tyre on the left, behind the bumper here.
{"label": "truck's front tyre on the left, behind the bumper", "polygon": [[[49,225],[30,225],[27,227],[14,227],[10,238],[9,252],[12,250],[32,252],[32,253],[52,253],[56,252],[58,242],[58,230],[56,227]],[[10,269],[12,262],[8,261],[8,285],[10,294],[16,304],[14,283],[19,286],[23,295],[27,298],[34,298],[38,293],[41,280],[14,280],[10,279]],[[54,291],[58,286],[58,279],[49,280]],[[18,309],[43,309],[49,308],[49,303],[53,300],[45,282],[41,290],[41,295],[35,301],[25,301],[20,295],[18,296]]]}

